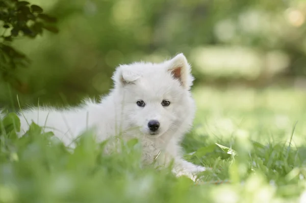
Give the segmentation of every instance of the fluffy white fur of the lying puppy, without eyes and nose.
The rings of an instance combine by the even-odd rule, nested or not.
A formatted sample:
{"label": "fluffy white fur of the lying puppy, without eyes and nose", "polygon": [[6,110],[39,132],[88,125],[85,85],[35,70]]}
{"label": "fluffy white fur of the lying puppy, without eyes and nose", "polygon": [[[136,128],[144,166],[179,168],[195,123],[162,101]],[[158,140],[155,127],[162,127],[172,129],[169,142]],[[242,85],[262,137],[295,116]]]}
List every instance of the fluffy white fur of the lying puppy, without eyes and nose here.
{"label": "fluffy white fur of the lying puppy, without eyes and nose", "polygon": [[[190,71],[182,53],[159,64],[120,65],[112,77],[114,89],[100,103],[86,102],[84,106],[67,110],[23,110],[21,129],[27,131],[28,123],[34,121],[45,126],[45,131],[53,131],[67,145],[87,128],[94,127],[97,141],[122,132],[125,140],[139,138],[144,163],[152,163],[159,155],[158,164],[174,160],[173,172],[177,176],[193,177],[205,168],[183,160],[180,148],[195,113]],[[162,106],[164,99],[171,102],[169,106]],[[138,100],[143,100],[145,106],[139,107]],[[158,134],[150,134],[150,120],[159,121]]]}

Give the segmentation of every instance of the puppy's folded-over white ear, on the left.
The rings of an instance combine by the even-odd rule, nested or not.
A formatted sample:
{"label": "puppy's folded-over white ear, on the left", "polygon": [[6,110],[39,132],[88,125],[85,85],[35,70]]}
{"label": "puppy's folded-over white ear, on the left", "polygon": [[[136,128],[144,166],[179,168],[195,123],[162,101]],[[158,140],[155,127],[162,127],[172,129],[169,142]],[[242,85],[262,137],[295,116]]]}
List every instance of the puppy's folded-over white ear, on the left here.
{"label": "puppy's folded-over white ear, on the left", "polygon": [[125,86],[126,84],[134,83],[140,76],[139,73],[131,70],[128,65],[120,65],[116,69],[112,79],[115,85]]}

